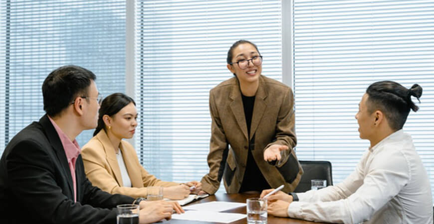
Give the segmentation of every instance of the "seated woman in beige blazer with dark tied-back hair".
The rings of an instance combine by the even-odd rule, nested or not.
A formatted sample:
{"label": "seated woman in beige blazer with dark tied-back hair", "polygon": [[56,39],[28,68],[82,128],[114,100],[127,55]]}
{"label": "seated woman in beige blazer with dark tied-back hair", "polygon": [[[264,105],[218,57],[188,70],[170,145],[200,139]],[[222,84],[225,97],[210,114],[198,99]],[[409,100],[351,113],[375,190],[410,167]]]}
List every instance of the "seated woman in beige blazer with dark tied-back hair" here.
{"label": "seated woman in beige blazer with dark tied-back hair", "polygon": [[[136,103],[122,93],[106,97],[99,109],[93,138],[81,151],[87,178],[111,194],[146,197],[147,187],[162,186],[164,198],[179,200],[201,190],[202,184],[166,182],[149,174],[139,163],[136,150],[123,138],[132,138],[137,126]],[[190,187],[195,190],[190,191]]]}

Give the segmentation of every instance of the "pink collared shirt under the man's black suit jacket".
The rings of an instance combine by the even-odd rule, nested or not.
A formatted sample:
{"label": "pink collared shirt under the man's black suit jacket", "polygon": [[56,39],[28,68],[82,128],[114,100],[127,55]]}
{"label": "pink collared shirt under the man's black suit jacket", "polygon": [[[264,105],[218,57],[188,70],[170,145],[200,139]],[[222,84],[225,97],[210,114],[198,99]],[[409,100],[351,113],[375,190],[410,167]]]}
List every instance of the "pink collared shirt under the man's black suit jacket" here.
{"label": "pink collared shirt under the man's black suit jacket", "polygon": [[56,129],[57,134],[59,135],[60,141],[62,142],[63,149],[65,150],[66,159],[68,160],[69,170],[71,171],[71,177],[72,177],[72,186],[74,186],[74,202],[77,202],[77,184],[76,184],[76,178],[75,178],[75,161],[78,158],[78,155],[80,155],[81,149],[80,146],[78,146],[77,141],[74,139],[74,141],[71,141],[68,136],[60,129],[59,126],[57,126],[56,122],[54,122],[53,119],[51,119],[50,116],[48,116],[51,123],[54,126],[54,129]]}

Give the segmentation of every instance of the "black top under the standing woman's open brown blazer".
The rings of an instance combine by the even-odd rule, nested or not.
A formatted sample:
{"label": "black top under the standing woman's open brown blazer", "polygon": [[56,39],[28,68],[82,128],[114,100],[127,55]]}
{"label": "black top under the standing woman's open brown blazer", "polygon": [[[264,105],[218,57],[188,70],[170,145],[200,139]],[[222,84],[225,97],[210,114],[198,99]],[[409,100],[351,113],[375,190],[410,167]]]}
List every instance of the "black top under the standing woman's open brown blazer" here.
{"label": "black top under the standing woman's open brown blazer", "polygon": [[[244,107],[245,122],[247,124],[247,133],[248,136],[250,136],[251,117],[253,114],[255,96],[246,97],[241,94],[241,97],[242,97],[242,105]],[[252,137],[251,141],[254,141],[254,136]],[[245,166],[244,177],[242,179],[239,192],[240,193],[245,191],[260,192],[264,189],[271,188],[270,185],[265,180],[264,175],[262,175],[258,165],[256,164],[253,158],[251,151],[254,150],[254,148],[250,148],[250,145],[254,145],[254,144],[248,144],[248,145],[249,146],[248,146],[248,154],[247,154],[247,163]],[[260,149],[256,149],[256,150],[260,150]]]}

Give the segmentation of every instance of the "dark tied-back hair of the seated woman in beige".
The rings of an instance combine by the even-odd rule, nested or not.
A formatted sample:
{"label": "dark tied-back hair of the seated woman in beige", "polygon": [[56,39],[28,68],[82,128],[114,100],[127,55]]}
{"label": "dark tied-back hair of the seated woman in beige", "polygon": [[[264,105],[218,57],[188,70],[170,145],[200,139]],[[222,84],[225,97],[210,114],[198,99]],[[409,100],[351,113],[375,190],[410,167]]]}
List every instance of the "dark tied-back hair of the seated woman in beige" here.
{"label": "dark tied-back hair of the seated woman in beige", "polygon": [[95,128],[95,131],[93,132],[93,136],[98,134],[98,132],[101,129],[105,130],[106,128],[105,123],[104,120],[102,119],[104,115],[113,116],[117,112],[122,110],[122,108],[125,108],[125,106],[129,105],[130,103],[136,105],[136,102],[134,102],[134,100],[131,97],[123,93],[114,93],[104,98],[104,100],[101,103],[101,107],[99,108],[98,126]]}

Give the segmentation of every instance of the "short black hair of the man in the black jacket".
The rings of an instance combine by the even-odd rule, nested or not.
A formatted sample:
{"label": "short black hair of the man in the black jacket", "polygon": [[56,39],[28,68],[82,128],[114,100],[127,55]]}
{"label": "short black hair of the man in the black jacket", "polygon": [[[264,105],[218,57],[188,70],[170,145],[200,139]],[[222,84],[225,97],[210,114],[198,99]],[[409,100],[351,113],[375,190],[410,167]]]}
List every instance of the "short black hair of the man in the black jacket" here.
{"label": "short black hair of the man in the black jacket", "polygon": [[96,80],[95,74],[75,65],[52,71],[42,84],[44,111],[49,116],[58,115],[77,96],[87,96],[91,80]]}

